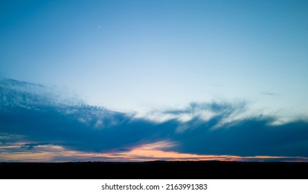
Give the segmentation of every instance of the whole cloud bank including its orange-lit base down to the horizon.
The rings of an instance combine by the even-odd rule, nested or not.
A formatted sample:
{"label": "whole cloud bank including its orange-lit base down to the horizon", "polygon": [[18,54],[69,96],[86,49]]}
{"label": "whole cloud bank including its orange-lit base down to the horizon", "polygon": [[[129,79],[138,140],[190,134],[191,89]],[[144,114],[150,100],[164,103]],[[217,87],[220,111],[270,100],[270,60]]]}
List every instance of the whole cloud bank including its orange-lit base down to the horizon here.
{"label": "whole cloud bank including its orange-lit base down to the horizon", "polygon": [[[157,122],[80,101],[53,103],[40,88],[48,89],[0,83],[0,161],[307,161],[307,121],[272,125],[275,116],[240,116],[244,102],[191,103],[160,112],[170,116]],[[184,114],[189,119],[179,119]]]}

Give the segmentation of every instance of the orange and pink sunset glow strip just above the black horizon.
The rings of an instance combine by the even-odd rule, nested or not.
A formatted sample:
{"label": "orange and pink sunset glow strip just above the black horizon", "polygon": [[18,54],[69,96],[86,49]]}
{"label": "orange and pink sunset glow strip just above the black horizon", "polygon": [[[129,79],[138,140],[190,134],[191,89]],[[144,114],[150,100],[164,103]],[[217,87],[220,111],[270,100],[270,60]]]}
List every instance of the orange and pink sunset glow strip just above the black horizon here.
{"label": "orange and pink sunset glow strip just above the black horizon", "polygon": [[[308,161],[307,157],[292,156],[233,156],[200,155],[164,151],[175,143],[160,141],[139,145],[126,152],[90,153],[66,150],[60,145],[38,145],[33,150],[20,145],[0,146],[0,161],[3,162],[68,162],[68,161]],[[11,151],[14,149],[14,151]]]}

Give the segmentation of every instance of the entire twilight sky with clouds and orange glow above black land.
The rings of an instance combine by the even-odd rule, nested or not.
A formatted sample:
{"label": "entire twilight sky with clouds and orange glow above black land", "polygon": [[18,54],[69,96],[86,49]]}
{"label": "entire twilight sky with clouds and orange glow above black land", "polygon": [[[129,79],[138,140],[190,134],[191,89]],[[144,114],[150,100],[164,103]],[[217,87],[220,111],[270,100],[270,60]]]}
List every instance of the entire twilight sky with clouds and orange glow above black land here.
{"label": "entire twilight sky with clouds and orange glow above black land", "polygon": [[307,10],[0,1],[0,161],[307,161]]}

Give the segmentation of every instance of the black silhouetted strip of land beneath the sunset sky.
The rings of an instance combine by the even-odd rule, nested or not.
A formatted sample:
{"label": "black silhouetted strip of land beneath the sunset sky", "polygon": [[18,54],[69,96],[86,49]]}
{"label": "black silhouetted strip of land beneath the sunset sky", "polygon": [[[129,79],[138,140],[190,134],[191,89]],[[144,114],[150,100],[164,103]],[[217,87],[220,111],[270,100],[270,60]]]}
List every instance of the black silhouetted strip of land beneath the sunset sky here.
{"label": "black silhouetted strip of land beneath the sunset sky", "polygon": [[308,163],[148,161],[0,163],[1,179],[307,179]]}

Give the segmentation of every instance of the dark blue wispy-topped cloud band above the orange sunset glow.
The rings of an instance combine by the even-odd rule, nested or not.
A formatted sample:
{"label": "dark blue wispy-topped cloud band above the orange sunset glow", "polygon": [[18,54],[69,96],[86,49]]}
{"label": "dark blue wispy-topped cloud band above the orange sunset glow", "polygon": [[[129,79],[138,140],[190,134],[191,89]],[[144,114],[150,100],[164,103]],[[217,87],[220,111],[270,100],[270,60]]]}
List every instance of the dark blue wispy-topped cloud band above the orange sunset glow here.
{"label": "dark blue wispy-topped cloud band above the orange sunset glow", "polygon": [[[45,87],[30,86],[7,79],[0,83],[2,143],[14,138],[15,142],[34,141],[22,146],[28,150],[37,145],[58,144],[70,150],[108,152],[173,141],[177,145],[164,150],[189,154],[308,156],[307,121],[272,125],[275,116],[251,116],[221,124],[231,114],[247,108],[245,103],[191,103],[182,110],[164,112],[192,114],[191,120],[157,123],[85,103],[52,103],[54,97],[37,92]],[[33,88],[37,90],[32,92]],[[194,113],[202,110],[213,112],[213,116],[204,120]],[[181,127],[185,129],[179,132]]]}

